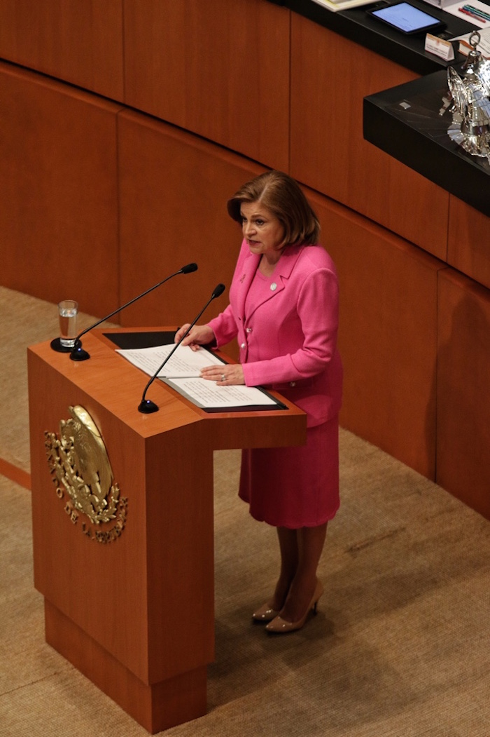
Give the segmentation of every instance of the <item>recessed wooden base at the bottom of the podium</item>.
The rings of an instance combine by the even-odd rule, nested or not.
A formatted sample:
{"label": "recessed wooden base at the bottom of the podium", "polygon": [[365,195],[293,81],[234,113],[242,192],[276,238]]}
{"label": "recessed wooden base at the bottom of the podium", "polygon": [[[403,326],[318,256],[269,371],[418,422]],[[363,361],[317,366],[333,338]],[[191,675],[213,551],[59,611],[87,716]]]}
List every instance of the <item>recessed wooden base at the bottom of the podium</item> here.
{"label": "recessed wooden base at the bottom of the podium", "polygon": [[205,715],[206,666],[147,684],[46,599],[44,614],[46,642],[149,733]]}

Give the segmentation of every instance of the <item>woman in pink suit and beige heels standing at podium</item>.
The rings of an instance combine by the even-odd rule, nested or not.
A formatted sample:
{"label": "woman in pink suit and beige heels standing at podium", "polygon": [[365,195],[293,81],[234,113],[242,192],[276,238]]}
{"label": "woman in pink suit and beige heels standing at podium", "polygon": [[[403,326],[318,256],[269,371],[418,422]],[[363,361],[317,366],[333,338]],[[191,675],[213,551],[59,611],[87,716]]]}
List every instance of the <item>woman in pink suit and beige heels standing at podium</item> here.
{"label": "woman in pink suit and beige heels standing at podium", "polygon": [[238,338],[240,363],[204,368],[202,377],[280,391],[307,413],[305,446],[242,452],[239,492],[252,517],[277,528],[280,545],[274,593],[252,616],[269,623],[269,632],[292,632],[323,593],[316,569],[339,505],[338,282],[332,259],[317,245],[316,214],[291,177],[261,174],[227,208],[244,235],[230,304],[182,343],[198,349]]}

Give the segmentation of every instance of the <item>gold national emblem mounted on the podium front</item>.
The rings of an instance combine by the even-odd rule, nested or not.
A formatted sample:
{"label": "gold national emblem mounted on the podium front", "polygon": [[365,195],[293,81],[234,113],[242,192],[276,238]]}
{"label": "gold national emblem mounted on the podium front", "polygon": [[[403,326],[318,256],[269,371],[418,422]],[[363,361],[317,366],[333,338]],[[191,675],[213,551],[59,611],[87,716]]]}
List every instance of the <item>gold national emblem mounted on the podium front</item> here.
{"label": "gold national emblem mounted on the podium front", "polygon": [[[124,529],[127,498],[119,497],[107,450],[90,414],[79,405],[68,408],[71,419],[60,421],[60,436],[44,433],[49,469],[57,496],[68,500],[65,511],[76,524],[85,514],[95,528],[82,524],[82,531],[99,542],[112,542]],[[102,531],[102,523],[113,523]]]}

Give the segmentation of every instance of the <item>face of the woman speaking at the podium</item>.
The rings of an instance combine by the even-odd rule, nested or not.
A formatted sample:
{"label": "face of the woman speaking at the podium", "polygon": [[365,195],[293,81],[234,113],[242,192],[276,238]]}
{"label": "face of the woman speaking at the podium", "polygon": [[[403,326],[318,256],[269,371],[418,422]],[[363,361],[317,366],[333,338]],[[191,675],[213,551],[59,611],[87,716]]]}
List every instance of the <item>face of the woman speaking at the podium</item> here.
{"label": "face of the woman speaking at the podium", "polygon": [[252,254],[266,254],[277,260],[284,240],[284,228],[277,217],[258,202],[243,202],[241,228]]}

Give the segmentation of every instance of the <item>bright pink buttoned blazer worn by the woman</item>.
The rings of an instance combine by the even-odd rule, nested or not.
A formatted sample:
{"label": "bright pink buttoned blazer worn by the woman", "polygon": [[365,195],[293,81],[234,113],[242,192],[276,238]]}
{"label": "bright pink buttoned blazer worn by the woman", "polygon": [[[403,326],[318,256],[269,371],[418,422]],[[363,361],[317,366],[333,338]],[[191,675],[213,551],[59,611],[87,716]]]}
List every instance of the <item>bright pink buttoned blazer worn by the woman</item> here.
{"label": "bright pink buttoned blazer worn by the woman", "polygon": [[308,413],[308,427],[319,425],[341,407],[335,265],[320,245],[287,246],[245,310],[259,262],[242,242],[230,304],[208,324],[218,347],[238,339],[247,386],[280,391]]}

